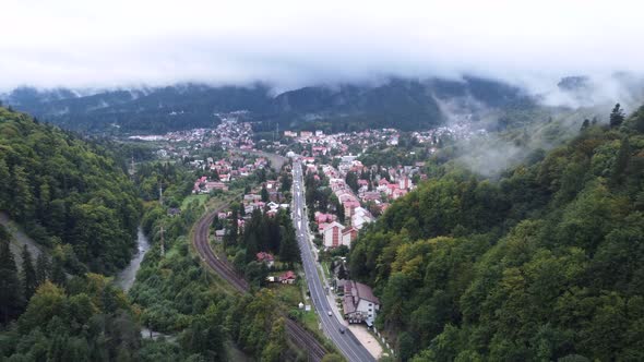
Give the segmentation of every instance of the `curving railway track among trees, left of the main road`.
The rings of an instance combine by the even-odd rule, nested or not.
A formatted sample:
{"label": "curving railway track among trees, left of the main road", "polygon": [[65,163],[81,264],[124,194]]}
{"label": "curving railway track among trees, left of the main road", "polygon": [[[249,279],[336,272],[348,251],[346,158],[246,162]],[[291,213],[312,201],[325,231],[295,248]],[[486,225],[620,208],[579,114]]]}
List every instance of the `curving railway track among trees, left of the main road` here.
{"label": "curving railway track among trees, left of the main road", "polygon": [[[201,256],[201,260],[211,269],[217,273],[222,279],[229,282],[237,291],[243,294],[250,291],[248,282],[240,275],[238,275],[237,272],[235,272],[228,261],[219,258],[213,252],[208,243],[210,227],[213,224],[215,215],[222,209],[223,208],[210,212],[202,216],[194,228],[192,244]],[[290,340],[301,350],[308,352],[310,361],[322,361],[322,358],[324,354],[326,354],[326,349],[320,343],[320,341],[315,339],[315,337],[313,337],[310,331],[305,329],[295,321],[289,319],[288,317],[286,317],[285,321],[286,331],[288,333]]]}

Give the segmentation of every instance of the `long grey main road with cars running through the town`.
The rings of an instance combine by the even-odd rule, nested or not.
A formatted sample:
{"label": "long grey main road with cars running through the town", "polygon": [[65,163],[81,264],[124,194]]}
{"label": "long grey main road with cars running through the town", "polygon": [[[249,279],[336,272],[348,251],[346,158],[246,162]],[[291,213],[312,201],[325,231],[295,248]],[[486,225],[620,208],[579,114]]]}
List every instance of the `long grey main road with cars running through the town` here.
{"label": "long grey main road with cars running through the town", "polygon": [[[320,314],[320,321],[324,333],[331,338],[335,347],[349,361],[375,361],[369,351],[360,345],[356,336],[344,326],[344,324],[335,316],[334,313],[329,315],[331,304],[326,298],[327,290],[322,285],[320,275],[313,260],[311,251],[311,242],[308,233],[308,215],[305,210],[305,181],[302,176],[302,168],[299,161],[293,164],[293,220],[296,228],[297,239],[302,256],[302,266],[307,275],[307,283],[311,293],[311,300],[315,310]],[[341,333],[341,328],[345,330]]]}

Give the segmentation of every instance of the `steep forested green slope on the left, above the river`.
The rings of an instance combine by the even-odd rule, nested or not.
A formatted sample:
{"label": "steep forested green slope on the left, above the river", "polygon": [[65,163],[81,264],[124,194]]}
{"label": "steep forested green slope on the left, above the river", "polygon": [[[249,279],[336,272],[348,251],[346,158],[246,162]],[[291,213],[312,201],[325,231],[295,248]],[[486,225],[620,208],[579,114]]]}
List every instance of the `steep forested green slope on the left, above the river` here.
{"label": "steep forested green slope on the left, above the river", "polygon": [[107,149],[1,107],[0,210],[72,274],[127,265],[140,218],[134,186]]}

